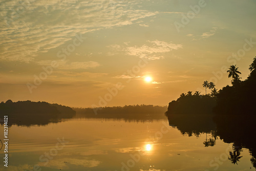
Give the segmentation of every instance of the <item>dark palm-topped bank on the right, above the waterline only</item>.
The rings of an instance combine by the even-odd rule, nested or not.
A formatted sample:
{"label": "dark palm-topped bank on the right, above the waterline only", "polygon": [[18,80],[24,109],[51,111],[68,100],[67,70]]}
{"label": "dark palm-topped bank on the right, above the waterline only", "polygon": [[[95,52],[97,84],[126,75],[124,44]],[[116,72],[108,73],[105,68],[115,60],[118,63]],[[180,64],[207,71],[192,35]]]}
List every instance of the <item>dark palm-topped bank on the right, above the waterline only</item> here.
{"label": "dark palm-topped bank on the right, above the waterline only", "polygon": [[[250,75],[241,81],[239,68],[230,66],[228,77],[232,86],[215,89],[215,83],[204,81],[205,95],[189,91],[182,93],[177,100],[168,104],[166,116],[171,114],[216,114],[216,115],[254,115],[256,102],[256,57],[249,66]],[[211,93],[207,94],[207,89]]]}

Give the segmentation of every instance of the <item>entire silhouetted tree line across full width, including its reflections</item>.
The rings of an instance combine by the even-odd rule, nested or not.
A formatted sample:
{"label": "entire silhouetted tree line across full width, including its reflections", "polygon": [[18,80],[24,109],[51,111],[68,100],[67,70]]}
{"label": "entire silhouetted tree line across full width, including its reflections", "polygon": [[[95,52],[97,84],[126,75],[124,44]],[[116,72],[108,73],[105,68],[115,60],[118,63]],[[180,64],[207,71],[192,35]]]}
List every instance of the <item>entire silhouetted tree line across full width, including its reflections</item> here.
{"label": "entire silhouetted tree line across full width, including its reflections", "polygon": [[[227,70],[228,77],[232,78],[232,86],[215,88],[214,82],[204,81],[205,95],[200,92],[189,91],[182,93],[177,100],[167,106],[154,105],[125,105],[104,108],[70,108],[47,102],[7,100],[0,103],[0,114],[8,115],[9,125],[46,125],[57,123],[62,119],[104,118],[144,121],[147,119],[168,118],[170,126],[176,127],[181,134],[188,136],[206,135],[203,142],[205,147],[214,146],[220,138],[225,143],[233,143],[228,158],[231,163],[238,164],[240,152],[248,148],[251,154],[251,163],[256,168],[256,57],[249,66],[250,74],[244,81],[241,80],[235,66]],[[207,89],[211,92],[207,94]],[[166,111],[167,110],[167,111]],[[95,113],[95,111],[97,111]],[[165,113],[165,115],[164,115]]]}

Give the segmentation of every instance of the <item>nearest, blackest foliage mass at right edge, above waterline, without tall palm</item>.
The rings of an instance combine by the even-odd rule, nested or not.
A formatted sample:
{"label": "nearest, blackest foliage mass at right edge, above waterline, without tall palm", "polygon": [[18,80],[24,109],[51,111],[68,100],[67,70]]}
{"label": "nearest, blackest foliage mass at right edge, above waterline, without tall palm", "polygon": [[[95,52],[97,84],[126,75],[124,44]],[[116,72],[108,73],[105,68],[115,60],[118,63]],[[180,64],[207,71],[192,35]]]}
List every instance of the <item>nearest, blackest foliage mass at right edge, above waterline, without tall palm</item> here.
{"label": "nearest, blackest foliage mass at right edge, above waterline, without tall palm", "polygon": [[[254,58],[253,63],[256,63],[256,58]],[[253,63],[250,65],[251,73],[246,80],[233,81],[232,86],[226,86],[219,91],[217,105],[214,108],[216,114],[256,114],[256,70]]]}

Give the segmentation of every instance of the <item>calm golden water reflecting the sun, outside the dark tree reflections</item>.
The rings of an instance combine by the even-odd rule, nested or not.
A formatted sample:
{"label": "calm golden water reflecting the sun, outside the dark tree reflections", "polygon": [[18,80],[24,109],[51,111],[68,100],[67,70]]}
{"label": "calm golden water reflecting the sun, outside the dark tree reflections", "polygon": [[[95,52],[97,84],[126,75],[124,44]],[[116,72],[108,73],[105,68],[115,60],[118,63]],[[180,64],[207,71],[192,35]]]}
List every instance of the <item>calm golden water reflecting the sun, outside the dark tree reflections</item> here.
{"label": "calm golden water reflecting the sun, outside the dark tree reflections", "polygon": [[74,118],[45,126],[12,125],[9,166],[1,161],[0,169],[255,170],[248,149],[242,148],[242,158],[233,164],[228,159],[233,144],[216,137],[214,146],[205,147],[209,138],[214,139],[209,133],[182,135],[167,119]]}

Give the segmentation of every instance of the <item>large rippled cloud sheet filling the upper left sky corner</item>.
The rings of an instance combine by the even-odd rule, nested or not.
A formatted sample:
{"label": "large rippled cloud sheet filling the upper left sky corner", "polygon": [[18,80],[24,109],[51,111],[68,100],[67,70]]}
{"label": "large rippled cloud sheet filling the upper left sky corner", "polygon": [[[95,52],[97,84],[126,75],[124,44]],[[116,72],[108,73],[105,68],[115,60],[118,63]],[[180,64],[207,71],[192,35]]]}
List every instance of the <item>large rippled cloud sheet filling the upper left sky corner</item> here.
{"label": "large rippled cloud sheet filling the upper left sky corner", "polygon": [[135,0],[1,2],[0,60],[34,61],[39,53],[66,44],[75,34],[132,25],[158,14],[138,9],[138,4]]}

